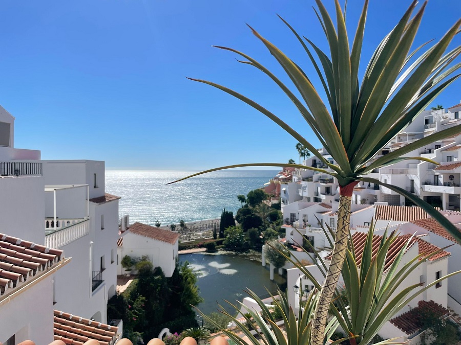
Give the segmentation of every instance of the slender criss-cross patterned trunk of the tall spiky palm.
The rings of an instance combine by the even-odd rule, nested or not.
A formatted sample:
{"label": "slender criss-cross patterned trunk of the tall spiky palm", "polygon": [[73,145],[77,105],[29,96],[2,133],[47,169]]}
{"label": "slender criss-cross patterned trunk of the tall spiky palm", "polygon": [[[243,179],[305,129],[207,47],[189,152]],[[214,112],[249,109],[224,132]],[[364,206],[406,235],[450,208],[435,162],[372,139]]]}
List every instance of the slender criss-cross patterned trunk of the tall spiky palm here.
{"label": "slender criss-cross patterned trunk of the tall spiky palm", "polygon": [[358,182],[349,183],[345,187],[340,186],[340,203],[338,208],[338,227],[336,239],[334,240],[333,254],[328,266],[325,282],[320,291],[319,301],[312,321],[312,333],[310,345],[323,345],[325,325],[328,317],[328,309],[338,279],[343,268],[346,255],[347,239],[349,237],[350,203],[352,191]]}

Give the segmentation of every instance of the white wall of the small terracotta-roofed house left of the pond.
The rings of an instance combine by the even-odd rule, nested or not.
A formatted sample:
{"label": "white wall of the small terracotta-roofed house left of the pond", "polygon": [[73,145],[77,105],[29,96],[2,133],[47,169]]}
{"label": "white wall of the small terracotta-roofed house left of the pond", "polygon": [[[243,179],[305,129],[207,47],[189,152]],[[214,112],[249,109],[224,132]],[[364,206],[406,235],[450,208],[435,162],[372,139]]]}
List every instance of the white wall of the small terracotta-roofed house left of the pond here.
{"label": "white wall of the small terracotta-roofed house left of the pond", "polygon": [[[161,267],[165,277],[171,277],[175,270],[178,256],[178,241],[175,244],[157,241],[149,237],[127,233],[123,236],[123,247],[118,249],[119,262],[128,255],[130,257],[149,256],[154,267]],[[121,265],[118,267],[121,274]]]}

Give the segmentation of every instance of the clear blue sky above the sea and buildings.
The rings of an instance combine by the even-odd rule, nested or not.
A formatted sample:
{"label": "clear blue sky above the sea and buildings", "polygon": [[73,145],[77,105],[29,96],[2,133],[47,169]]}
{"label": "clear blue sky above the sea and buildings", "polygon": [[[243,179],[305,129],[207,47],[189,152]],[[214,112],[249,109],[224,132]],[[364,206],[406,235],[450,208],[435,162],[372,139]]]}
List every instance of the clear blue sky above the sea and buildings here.
{"label": "clear blue sky above the sea and buildings", "polygon": [[[332,0],[324,2],[332,9]],[[370,3],[363,60],[371,57],[411,2]],[[0,104],[16,117],[15,147],[39,149],[44,159],[106,160],[108,168],[197,170],[298,160],[296,141],[277,125],[222,91],[185,76],[235,88],[312,139],[277,86],[256,68],[239,64],[234,54],[211,45],[243,51],[286,81],[245,26],[248,23],[313,76],[305,53],[276,13],[326,48],[314,4],[3,0]],[[362,4],[349,0],[350,36]],[[440,38],[460,16],[459,0],[429,1],[416,43]],[[460,40],[457,37],[455,43]],[[460,90],[458,81],[435,103],[459,103]],[[312,139],[312,144],[318,142]]]}

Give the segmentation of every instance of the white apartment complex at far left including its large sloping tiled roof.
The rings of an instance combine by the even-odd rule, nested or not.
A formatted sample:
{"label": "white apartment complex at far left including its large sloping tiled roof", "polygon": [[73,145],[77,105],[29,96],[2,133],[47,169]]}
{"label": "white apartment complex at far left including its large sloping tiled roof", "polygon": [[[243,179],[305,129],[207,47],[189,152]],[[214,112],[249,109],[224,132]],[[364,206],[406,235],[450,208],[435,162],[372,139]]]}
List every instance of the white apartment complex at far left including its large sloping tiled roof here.
{"label": "white apartment complex at far left including its large sloping tiled roof", "polygon": [[119,198],[105,192],[104,162],[40,158],[14,148],[14,117],[0,107],[5,344],[53,341],[53,310],[104,325],[116,293]]}

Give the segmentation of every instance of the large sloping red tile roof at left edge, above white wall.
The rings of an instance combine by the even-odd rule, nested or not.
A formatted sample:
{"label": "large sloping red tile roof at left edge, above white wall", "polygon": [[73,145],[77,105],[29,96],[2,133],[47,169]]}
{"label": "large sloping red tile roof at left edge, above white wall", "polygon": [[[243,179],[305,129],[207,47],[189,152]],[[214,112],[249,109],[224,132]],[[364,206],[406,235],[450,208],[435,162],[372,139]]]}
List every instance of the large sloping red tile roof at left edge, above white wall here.
{"label": "large sloping red tile roof at left edge, above white wall", "polygon": [[64,251],[0,234],[0,298],[64,260]]}

